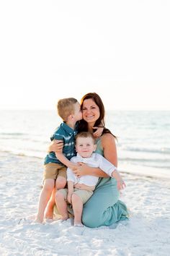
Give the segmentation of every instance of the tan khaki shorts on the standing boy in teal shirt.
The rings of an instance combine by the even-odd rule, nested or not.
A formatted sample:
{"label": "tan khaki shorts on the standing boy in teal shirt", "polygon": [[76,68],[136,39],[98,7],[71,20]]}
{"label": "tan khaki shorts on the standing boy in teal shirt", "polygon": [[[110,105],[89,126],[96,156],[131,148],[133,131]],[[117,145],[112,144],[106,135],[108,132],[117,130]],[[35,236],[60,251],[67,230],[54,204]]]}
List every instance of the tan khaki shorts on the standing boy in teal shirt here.
{"label": "tan khaki shorts on the standing boy in teal shirt", "polygon": [[62,166],[59,163],[47,163],[44,167],[43,181],[45,179],[56,179],[58,176],[67,179],[66,166]]}

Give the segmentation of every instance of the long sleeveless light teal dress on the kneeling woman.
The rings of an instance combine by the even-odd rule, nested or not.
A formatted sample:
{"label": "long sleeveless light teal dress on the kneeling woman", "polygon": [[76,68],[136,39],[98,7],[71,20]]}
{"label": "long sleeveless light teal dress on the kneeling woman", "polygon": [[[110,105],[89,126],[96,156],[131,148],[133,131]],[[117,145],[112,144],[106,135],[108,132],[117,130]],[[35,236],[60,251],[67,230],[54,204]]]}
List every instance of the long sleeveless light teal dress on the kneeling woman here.
{"label": "long sleeveless light teal dress on the kneeling woman", "polygon": [[[103,155],[101,140],[97,140],[96,153]],[[89,228],[110,226],[128,219],[128,209],[119,200],[117,181],[114,178],[99,178],[94,194],[84,205],[82,222]]]}

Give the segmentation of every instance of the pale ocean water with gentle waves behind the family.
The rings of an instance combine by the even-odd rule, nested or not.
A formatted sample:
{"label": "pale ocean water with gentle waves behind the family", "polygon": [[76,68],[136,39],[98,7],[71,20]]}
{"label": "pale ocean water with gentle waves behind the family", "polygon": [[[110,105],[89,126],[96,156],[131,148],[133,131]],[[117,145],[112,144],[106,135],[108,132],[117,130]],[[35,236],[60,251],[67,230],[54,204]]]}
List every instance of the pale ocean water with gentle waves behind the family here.
{"label": "pale ocean water with gentle waves behind the family", "polygon": [[[1,110],[0,155],[43,158],[61,123],[55,111]],[[170,111],[106,111],[120,171],[170,178]]]}

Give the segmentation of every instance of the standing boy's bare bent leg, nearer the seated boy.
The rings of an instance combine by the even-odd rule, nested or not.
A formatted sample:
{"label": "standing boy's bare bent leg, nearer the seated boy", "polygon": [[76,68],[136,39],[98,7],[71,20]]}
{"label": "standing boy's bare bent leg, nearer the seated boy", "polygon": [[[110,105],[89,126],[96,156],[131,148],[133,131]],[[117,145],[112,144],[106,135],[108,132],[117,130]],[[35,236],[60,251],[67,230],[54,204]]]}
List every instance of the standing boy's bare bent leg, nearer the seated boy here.
{"label": "standing boy's bare bent leg, nearer the seated boy", "polygon": [[66,178],[58,176],[55,181],[55,189],[53,189],[52,195],[48,202],[47,209],[45,211],[45,218],[53,219],[53,208],[55,205],[55,194],[58,189],[63,189],[66,186]]}

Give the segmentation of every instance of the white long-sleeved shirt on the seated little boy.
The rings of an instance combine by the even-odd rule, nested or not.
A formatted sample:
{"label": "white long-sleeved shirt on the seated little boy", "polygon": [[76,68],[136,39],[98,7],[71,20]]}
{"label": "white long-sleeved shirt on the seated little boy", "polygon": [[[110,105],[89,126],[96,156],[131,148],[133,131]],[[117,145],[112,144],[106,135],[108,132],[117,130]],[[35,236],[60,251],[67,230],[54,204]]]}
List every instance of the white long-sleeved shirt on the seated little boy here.
{"label": "white long-sleeved shirt on the seated little boy", "polygon": [[[116,167],[110,163],[106,158],[98,153],[92,153],[91,157],[89,158],[82,158],[79,153],[76,156],[73,156],[70,160],[72,163],[86,163],[88,166],[100,168],[109,176],[112,176],[112,172],[116,169]],[[73,182],[73,184],[80,183],[85,184],[87,186],[95,186],[97,184],[99,177],[85,175],[81,176],[80,178],[73,174],[70,168],[67,168],[67,181]]]}

